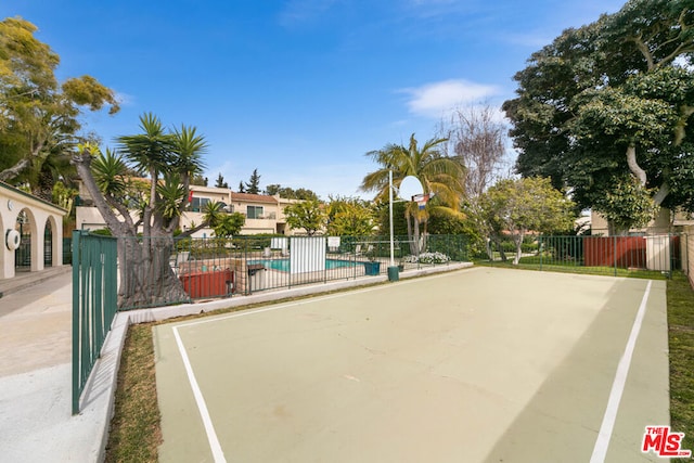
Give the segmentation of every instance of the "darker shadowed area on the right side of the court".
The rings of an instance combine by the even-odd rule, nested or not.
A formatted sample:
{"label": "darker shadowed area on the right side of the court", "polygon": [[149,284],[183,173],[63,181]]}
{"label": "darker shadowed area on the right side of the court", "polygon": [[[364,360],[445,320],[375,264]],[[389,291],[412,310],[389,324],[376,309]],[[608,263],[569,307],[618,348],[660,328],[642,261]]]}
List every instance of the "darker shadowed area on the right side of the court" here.
{"label": "darker shadowed area on the right side of the court", "polygon": [[[641,452],[645,426],[670,421],[665,282],[654,283],[606,462],[664,461]],[[643,286],[639,280],[615,282],[609,300],[571,352],[499,436],[486,462],[591,461]]]}

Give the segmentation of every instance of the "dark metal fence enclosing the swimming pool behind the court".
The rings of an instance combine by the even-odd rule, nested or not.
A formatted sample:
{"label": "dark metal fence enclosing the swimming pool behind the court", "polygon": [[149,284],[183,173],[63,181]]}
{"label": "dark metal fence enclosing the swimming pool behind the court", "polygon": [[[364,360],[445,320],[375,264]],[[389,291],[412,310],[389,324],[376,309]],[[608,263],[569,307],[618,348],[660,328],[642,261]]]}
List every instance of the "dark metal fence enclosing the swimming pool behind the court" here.
{"label": "dark metal fence enclosing the swimming pool behind the court", "polygon": [[[427,236],[419,245],[394,239],[394,263],[401,270],[466,258],[463,236]],[[389,265],[387,236],[183,239],[170,256],[171,269],[191,299],[386,274]]]}

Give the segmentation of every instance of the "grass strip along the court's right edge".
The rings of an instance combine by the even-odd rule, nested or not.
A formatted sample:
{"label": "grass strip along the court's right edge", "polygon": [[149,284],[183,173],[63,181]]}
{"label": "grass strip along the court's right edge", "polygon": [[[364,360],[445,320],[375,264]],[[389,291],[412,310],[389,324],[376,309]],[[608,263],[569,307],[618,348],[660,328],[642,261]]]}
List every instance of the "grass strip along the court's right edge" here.
{"label": "grass strip along the court's right edge", "polygon": [[670,425],[684,433],[682,448],[694,451],[694,291],[682,272],[674,272],[668,281],[667,298]]}

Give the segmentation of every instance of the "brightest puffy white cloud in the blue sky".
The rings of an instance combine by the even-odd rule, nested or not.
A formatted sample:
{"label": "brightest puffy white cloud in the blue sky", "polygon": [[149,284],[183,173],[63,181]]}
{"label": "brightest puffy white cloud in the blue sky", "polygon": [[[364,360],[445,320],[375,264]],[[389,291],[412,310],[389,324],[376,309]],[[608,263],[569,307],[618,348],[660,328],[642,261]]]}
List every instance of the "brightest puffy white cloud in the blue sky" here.
{"label": "brightest puffy white cloud in the blue sky", "polygon": [[411,95],[408,101],[410,113],[432,118],[439,118],[453,107],[471,104],[499,93],[494,86],[470,82],[462,79],[442,80],[426,83],[417,88],[403,89]]}

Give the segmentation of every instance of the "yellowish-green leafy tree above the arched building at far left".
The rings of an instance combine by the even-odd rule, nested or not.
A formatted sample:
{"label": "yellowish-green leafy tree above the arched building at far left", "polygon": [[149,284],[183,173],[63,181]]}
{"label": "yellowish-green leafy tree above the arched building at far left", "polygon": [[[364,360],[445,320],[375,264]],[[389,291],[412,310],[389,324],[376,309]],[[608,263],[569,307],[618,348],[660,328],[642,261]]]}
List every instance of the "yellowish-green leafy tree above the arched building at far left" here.
{"label": "yellowish-green leafy tree above the arched building at far left", "polygon": [[59,179],[69,180],[69,156],[85,141],[83,110],[119,110],[113,90],[91,76],[60,83],[59,55],[37,40],[37,27],[21,17],[0,22],[0,180],[28,183],[48,196]]}

